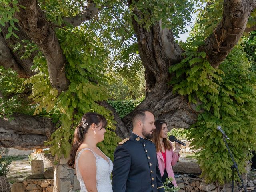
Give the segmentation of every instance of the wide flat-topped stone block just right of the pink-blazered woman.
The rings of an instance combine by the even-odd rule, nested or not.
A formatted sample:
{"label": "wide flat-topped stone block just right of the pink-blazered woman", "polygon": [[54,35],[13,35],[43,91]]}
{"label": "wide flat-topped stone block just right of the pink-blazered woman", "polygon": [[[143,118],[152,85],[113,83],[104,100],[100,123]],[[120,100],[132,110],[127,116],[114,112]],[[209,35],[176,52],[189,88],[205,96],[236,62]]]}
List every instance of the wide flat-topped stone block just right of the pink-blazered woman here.
{"label": "wide flat-topped stone block just right of the pink-blazered woman", "polygon": [[[200,174],[201,169],[199,165],[194,162],[177,162],[176,165],[173,166],[173,172],[178,173],[190,173],[190,174]],[[185,180],[183,178],[183,180]]]}

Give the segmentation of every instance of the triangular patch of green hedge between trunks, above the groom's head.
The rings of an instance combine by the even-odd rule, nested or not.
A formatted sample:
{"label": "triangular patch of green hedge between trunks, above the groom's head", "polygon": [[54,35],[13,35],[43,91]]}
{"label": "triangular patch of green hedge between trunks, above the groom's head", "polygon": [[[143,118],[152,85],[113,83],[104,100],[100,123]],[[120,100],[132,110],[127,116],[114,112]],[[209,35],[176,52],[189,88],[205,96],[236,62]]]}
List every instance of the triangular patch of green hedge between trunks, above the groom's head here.
{"label": "triangular patch of green hedge between trunks, above the groom's head", "polygon": [[116,110],[120,118],[123,118],[127,114],[129,114],[132,110],[138,106],[144,97],[138,98],[136,100],[116,100],[116,101],[108,101],[108,103]]}

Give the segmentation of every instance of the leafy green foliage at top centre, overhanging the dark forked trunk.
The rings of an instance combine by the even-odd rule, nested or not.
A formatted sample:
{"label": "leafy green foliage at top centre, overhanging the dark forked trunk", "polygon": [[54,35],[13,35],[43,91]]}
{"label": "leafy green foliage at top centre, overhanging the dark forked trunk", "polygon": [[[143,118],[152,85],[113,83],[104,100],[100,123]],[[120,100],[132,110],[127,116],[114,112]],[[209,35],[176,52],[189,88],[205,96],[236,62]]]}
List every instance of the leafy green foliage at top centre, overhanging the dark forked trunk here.
{"label": "leafy green foliage at top centre, overhanging the dark forked trunk", "polygon": [[153,24],[162,22],[162,28],[172,29],[175,36],[188,32],[184,27],[191,22],[194,2],[190,0],[138,0],[132,1],[130,9],[142,15],[133,15],[138,24],[149,29]]}

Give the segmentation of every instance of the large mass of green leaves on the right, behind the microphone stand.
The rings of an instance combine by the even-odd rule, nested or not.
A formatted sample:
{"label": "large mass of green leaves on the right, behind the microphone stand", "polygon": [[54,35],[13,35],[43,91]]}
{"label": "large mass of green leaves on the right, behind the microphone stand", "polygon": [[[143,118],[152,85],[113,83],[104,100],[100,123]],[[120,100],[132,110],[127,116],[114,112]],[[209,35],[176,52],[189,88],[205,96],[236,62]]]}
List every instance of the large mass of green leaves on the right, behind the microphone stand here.
{"label": "large mass of green leaves on the right, behind the microphone stand", "polygon": [[256,79],[238,46],[219,69],[212,68],[204,57],[204,53],[187,52],[186,58],[172,66],[170,72],[176,73],[172,79],[174,92],[188,96],[189,102],[198,104],[198,110],[204,110],[189,130],[191,145],[201,149],[198,163],[202,176],[208,182],[223,184],[231,179],[232,161],[216,127],[221,125],[230,137],[238,168],[245,172],[249,150],[255,149],[256,143]]}

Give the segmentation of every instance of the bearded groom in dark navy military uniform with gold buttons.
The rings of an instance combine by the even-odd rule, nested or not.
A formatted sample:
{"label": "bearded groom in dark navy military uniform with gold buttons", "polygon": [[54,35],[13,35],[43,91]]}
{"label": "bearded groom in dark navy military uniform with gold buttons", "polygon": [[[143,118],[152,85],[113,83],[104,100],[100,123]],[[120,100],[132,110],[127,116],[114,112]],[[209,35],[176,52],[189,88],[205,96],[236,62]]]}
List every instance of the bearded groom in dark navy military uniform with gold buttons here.
{"label": "bearded groom in dark navy military uniform with gold buttons", "polygon": [[114,152],[113,192],[164,192],[152,133],[154,115],[145,109],[134,112],[130,138]]}

